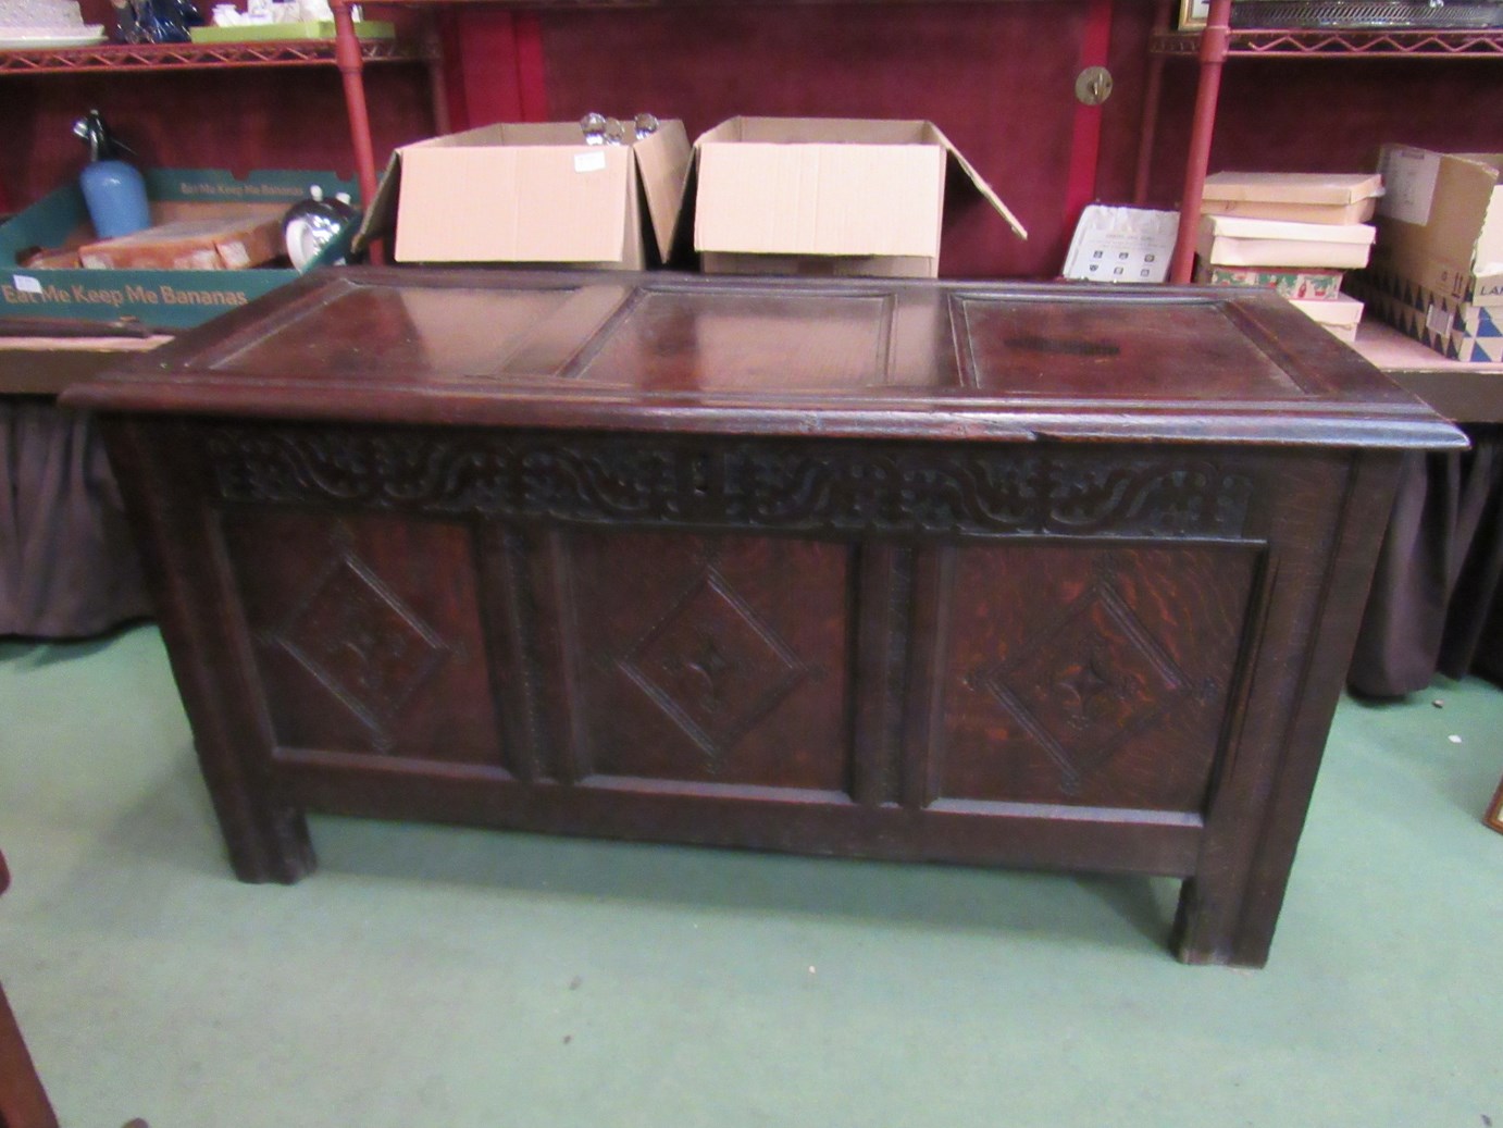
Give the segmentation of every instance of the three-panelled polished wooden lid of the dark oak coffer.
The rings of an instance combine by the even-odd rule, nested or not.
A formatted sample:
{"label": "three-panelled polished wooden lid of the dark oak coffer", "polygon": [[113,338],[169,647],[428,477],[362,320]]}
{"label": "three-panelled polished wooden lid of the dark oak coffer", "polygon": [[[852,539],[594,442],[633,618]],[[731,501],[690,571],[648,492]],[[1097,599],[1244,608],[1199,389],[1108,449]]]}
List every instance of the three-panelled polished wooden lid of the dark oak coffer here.
{"label": "three-panelled polished wooden lid of the dark oak coffer", "polygon": [[1235,287],[320,271],[65,403],[824,438],[1465,445],[1282,298]]}

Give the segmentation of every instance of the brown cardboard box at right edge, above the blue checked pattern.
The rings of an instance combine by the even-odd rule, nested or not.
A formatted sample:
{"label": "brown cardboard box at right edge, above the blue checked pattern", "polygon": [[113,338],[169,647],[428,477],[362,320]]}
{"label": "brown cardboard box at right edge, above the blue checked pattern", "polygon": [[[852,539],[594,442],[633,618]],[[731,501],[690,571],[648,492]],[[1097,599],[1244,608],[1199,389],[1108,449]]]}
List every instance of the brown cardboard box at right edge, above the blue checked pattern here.
{"label": "brown cardboard box at right edge, above the blue checked pattern", "polygon": [[1383,147],[1374,266],[1447,298],[1503,307],[1503,153]]}

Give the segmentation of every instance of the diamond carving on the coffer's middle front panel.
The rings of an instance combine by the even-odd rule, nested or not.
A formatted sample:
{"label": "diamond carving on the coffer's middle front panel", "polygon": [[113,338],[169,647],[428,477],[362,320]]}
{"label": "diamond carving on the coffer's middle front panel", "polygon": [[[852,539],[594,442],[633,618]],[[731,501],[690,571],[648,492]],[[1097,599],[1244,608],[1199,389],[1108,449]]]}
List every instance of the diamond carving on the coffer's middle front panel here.
{"label": "diamond carving on the coffer's middle front panel", "polygon": [[714,567],[618,665],[705,752],[711,772],[809,677]]}

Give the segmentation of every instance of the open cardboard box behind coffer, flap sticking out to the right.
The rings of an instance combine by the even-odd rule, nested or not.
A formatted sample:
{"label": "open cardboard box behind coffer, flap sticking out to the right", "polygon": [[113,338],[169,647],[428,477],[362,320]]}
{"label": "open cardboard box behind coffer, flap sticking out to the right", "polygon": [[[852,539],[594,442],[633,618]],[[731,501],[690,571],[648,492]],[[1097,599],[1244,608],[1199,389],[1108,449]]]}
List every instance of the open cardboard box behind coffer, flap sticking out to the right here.
{"label": "open cardboard box behind coffer, flap sticking out to the right", "polygon": [[932,278],[947,165],[1028,238],[930,122],[732,117],[694,143],[694,250],[711,274]]}

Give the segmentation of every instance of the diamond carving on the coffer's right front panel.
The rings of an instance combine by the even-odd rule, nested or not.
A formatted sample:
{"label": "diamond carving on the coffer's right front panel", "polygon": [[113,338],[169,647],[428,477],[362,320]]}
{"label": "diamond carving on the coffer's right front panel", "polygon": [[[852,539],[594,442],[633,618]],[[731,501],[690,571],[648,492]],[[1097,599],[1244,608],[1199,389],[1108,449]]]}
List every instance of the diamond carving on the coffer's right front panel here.
{"label": "diamond carving on the coffer's right front panel", "polygon": [[1174,659],[1105,581],[977,683],[1043,746],[1069,793],[1190,692]]}

